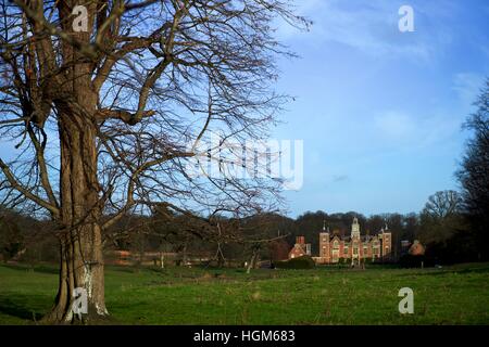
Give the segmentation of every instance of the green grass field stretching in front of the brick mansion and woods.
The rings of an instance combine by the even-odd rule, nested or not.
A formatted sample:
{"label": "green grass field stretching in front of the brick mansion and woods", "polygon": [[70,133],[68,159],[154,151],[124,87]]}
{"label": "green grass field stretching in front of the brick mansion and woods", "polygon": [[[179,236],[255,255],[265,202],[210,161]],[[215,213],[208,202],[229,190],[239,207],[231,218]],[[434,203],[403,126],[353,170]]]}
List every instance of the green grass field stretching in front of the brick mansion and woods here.
{"label": "green grass field stretching in front of the brick mansion and woods", "polygon": [[[0,266],[0,324],[34,324],[52,305],[50,266]],[[401,314],[398,292],[414,291]],[[443,269],[205,270],[108,267],[116,324],[489,324],[489,264]]]}

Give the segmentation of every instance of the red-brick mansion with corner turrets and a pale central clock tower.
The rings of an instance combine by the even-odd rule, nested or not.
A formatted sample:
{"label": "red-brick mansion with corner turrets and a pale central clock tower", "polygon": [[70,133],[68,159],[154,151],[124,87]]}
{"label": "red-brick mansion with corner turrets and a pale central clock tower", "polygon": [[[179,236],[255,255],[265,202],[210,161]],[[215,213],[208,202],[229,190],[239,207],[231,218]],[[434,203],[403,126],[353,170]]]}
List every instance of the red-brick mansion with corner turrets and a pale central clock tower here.
{"label": "red-brick mansion with corner turrets and a pale central clock tower", "polygon": [[[392,234],[386,228],[376,235],[361,235],[358,218],[353,218],[351,234],[340,236],[323,227],[319,232],[319,256],[313,257],[316,264],[351,262],[356,265],[368,259],[372,261],[391,260]],[[289,253],[289,258],[303,255],[311,256],[311,245],[305,243],[304,236],[298,236],[296,245]]]}

